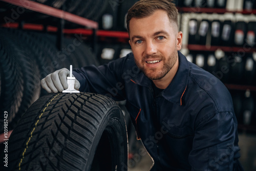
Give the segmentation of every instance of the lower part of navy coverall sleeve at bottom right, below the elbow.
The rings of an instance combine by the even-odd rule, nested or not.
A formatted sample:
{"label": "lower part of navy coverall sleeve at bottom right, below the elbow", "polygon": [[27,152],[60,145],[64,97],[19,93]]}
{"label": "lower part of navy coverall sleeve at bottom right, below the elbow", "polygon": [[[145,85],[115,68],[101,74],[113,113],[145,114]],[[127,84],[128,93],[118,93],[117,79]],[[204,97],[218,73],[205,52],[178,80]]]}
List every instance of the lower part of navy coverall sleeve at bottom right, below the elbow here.
{"label": "lower part of navy coverall sleeve at bottom right, below the elbow", "polygon": [[236,128],[231,112],[208,114],[197,121],[189,154],[192,170],[233,170],[234,154],[239,151],[234,145]]}

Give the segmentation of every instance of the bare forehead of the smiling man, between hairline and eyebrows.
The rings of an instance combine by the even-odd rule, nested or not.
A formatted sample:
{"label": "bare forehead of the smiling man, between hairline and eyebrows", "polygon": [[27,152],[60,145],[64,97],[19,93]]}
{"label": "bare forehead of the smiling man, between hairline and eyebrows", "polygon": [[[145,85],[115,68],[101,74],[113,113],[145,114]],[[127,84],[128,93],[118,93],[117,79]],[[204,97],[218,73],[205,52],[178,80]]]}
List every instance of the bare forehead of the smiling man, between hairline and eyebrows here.
{"label": "bare forehead of the smiling man, between hairline and eyebrows", "polygon": [[170,22],[166,11],[157,10],[150,16],[130,20],[130,37],[137,34],[146,36],[159,30],[164,30],[169,34],[175,30],[175,24]]}

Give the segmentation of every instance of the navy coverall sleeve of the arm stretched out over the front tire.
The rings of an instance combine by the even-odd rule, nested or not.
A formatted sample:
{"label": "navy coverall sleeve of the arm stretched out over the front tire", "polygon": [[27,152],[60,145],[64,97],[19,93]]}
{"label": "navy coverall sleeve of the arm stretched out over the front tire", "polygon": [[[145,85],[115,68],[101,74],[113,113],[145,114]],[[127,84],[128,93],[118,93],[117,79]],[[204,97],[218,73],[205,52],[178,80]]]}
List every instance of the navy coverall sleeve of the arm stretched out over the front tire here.
{"label": "navy coverall sleeve of the arm stretched out over the front tire", "polygon": [[80,82],[79,91],[102,94],[114,100],[124,100],[124,82],[121,79],[125,57],[96,67],[74,69],[73,75]]}

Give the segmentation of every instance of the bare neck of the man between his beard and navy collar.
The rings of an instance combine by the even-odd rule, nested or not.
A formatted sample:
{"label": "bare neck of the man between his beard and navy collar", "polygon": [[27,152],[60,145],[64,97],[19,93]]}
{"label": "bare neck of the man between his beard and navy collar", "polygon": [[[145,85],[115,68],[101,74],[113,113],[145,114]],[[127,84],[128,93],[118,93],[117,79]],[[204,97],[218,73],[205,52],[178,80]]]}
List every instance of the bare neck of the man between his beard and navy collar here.
{"label": "bare neck of the man between his beard and navy collar", "polygon": [[159,89],[166,89],[170,82],[174,79],[174,76],[179,68],[179,57],[177,57],[177,60],[173,66],[172,69],[161,79],[158,80],[153,80],[154,84],[156,85],[157,88]]}

